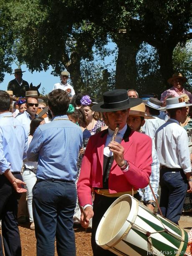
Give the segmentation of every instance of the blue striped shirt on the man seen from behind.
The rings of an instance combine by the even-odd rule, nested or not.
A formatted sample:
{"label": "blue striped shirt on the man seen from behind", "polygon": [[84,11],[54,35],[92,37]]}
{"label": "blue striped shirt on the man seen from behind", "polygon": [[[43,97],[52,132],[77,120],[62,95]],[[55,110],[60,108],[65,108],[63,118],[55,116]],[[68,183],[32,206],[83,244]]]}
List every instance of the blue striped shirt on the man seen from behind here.
{"label": "blue striped shirt on the man seen from behind", "polygon": [[38,161],[37,178],[76,180],[77,160],[83,144],[81,128],[67,115],[40,125],[29,145],[29,161]]}

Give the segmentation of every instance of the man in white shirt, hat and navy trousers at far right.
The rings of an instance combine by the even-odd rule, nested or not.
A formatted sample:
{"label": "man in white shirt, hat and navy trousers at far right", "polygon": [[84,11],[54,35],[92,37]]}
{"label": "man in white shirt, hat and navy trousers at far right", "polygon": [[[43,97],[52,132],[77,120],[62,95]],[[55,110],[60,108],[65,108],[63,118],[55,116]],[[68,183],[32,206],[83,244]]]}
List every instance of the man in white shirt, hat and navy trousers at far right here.
{"label": "man in white shirt, hat and navy trousers at far right", "polygon": [[[184,97],[166,100],[170,119],[157,130],[155,146],[160,163],[160,208],[163,215],[178,224],[186,193],[192,193],[191,161],[187,132],[180,126],[186,118]],[[188,190],[187,190],[188,185]]]}

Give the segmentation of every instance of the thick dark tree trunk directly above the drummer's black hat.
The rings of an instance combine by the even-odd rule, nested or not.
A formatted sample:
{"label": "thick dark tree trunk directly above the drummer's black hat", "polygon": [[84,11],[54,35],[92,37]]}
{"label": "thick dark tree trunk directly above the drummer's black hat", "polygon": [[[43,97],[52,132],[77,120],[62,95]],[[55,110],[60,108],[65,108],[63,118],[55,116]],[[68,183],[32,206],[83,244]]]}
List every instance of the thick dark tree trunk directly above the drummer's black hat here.
{"label": "thick dark tree trunk directly above the drummer's black hat", "polygon": [[[123,36],[123,35],[122,35]],[[129,38],[118,40],[118,57],[116,62],[116,89],[136,89],[136,54],[139,51],[140,41],[131,41]]]}

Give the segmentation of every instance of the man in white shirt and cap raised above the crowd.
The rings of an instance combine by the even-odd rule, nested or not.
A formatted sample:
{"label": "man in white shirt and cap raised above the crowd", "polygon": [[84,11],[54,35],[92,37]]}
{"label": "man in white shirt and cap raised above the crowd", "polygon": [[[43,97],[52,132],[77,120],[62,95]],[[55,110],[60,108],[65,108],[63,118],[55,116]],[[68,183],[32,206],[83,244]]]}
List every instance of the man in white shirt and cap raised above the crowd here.
{"label": "man in white shirt and cap raised above the crowd", "polygon": [[72,98],[75,95],[75,91],[74,91],[73,87],[70,84],[68,84],[68,82],[67,82],[68,78],[69,78],[69,72],[62,71],[61,72],[61,81],[60,81],[60,83],[54,84],[53,90],[61,89],[64,91],[68,91],[69,97]]}

